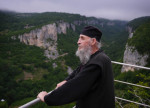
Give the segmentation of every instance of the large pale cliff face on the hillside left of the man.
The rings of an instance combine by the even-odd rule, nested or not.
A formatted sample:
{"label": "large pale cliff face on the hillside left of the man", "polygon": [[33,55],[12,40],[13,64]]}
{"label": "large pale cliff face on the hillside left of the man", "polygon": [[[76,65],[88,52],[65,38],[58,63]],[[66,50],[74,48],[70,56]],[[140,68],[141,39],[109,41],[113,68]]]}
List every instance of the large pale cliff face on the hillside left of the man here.
{"label": "large pale cliff face on the hillside left of the man", "polygon": [[[56,26],[57,25],[57,26]],[[75,30],[75,26],[69,23],[53,23],[43,26],[41,29],[35,29],[29,33],[19,35],[20,42],[27,45],[35,45],[45,49],[45,56],[55,59],[59,56],[57,51],[57,34],[66,34],[67,28]],[[14,38],[14,37],[13,37]]]}

